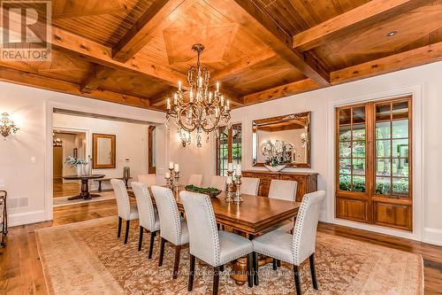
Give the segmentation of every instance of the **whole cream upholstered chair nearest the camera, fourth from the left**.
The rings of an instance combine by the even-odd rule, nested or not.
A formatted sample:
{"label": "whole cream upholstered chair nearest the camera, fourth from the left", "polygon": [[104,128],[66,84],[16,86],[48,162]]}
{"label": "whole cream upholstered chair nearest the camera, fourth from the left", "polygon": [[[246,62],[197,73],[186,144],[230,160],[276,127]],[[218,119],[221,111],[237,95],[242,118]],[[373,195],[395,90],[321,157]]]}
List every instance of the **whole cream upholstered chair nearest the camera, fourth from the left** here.
{"label": "whole cream upholstered chair nearest the camera, fourth from the left", "polygon": [[180,197],[189,229],[190,273],[187,290],[193,289],[195,258],[214,268],[212,294],[217,294],[219,271],[226,263],[245,255],[248,255],[248,286],[253,287],[252,242],[240,235],[217,230],[209,196],[183,190]]}

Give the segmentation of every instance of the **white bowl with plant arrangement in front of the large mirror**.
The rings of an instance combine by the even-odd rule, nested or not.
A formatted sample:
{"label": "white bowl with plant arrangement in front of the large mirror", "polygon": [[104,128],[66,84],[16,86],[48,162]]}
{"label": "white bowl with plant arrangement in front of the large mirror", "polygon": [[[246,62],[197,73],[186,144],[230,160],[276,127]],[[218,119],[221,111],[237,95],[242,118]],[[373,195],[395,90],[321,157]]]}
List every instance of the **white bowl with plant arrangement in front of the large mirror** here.
{"label": "white bowl with plant arrangement in front of the large mirror", "polygon": [[265,157],[264,167],[273,172],[281,171],[287,164],[293,161],[293,144],[282,141],[267,141],[261,146],[261,151]]}

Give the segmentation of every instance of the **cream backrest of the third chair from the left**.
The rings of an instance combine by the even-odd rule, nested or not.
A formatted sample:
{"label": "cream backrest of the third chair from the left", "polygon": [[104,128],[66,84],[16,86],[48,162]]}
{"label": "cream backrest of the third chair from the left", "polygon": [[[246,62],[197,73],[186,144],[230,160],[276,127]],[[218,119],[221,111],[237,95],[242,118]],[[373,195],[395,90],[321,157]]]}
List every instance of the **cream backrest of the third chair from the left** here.
{"label": "cream backrest of the third chair from the left", "polygon": [[160,236],[174,245],[181,245],[181,220],[173,192],[156,185],[151,190],[160,218]]}

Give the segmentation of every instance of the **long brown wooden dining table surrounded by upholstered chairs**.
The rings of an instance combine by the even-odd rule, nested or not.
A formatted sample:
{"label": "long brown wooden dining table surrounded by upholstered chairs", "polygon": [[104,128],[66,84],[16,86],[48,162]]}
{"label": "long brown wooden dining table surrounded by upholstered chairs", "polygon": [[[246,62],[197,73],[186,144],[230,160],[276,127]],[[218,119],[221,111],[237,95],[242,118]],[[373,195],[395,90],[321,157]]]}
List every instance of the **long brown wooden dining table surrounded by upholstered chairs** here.
{"label": "long brown wooden dining table surrounded by upholstered chairs", "polygon": [[[172,190],[179,212],[184,213],[184,206],[179,191],[185,190],[184,186],[179,190]],[[153,197],[149,188],[150,196]],[[132,190],[128,190],[130,197],[135,195]],[[226,192],[223,190],[215,197],[210,198],[217,223],[225,229],[232,230],[250,240],[278,226],[282,221],[293,220],[301,206],[299,202],[293,202],[278,198],[267,198],[241,194],[242,202],[225,202]],[[155,198],[152,198],[155,206]],[[259,265],[270,263],[272,259],[260,257]],[[247,257],[237,259],[232,263],[231,278],[235,283],[242,285],[248,281],[247,277]]]}

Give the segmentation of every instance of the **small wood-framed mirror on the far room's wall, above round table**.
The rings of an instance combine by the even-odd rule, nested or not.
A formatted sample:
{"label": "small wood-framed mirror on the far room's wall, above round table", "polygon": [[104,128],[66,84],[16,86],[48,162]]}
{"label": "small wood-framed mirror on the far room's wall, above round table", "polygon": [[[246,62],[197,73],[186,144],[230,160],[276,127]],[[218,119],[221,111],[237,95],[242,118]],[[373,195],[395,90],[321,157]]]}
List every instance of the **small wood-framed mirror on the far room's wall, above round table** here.
{"label": "small wood-framed mirror on the far room's wall, above round table", "polygon": [[115,135],[92,134],[94,169],[115,168]]}

